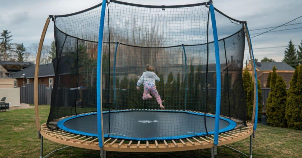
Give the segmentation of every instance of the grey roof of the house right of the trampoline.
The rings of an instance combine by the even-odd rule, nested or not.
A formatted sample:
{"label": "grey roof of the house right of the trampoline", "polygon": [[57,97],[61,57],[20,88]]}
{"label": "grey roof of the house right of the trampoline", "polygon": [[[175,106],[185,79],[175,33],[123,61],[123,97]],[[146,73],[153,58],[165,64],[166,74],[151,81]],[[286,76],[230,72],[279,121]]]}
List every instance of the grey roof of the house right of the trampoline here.
{"label": "grey roof of the house right of the trampoline", "polygon": [[255,62],[259,71],[272,70],[276,66],[277,70],[295,70],[293,67],[283,62]]}

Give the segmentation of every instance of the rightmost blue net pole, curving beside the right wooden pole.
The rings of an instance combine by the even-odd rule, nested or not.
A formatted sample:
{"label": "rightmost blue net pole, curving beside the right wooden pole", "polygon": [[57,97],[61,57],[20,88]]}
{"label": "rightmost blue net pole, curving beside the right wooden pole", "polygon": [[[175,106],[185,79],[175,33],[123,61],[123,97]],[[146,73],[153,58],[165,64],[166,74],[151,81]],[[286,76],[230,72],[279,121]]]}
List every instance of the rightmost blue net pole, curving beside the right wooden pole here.
{"label": "rightmost blue net pole, curving beside the right wooden pole", "polygon": [[[246,25],[246,31],[249,34],[249,28]],[[253,57],[253,63],[254,63],[254,73],[255,73],[255,87],[256,87],[256,107],[255,107],[255,123],[254,123],[254,131],[256,131],[257,129],[257,122],[258,122],[258,82],[257,82],[257,71],[256,71],[256,64],[255,64],[255,58],[254,58],[254,53],[253,53],[253,47],[252,47],[252,40],[251,40],[251,36],[249,34],[249,42],[250,42],[250,47],[251,47],[251,53],[252,53],[252,57]]]}

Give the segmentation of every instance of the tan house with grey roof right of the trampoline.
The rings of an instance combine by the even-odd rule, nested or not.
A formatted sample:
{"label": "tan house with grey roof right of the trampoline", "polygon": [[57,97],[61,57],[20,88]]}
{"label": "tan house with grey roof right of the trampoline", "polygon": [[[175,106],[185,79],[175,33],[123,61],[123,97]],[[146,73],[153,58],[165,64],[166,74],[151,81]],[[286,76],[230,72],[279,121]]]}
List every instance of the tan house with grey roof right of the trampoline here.
{"label": "tan house with grey roof right of the trampoline", "polygon": [[[283,62],[255,62],[255,64],[257,71],[257,79],[259,79],[261,83],[261,88],[266,88],[268,74],[270,72],[273,72],[272,69],[274,66],[277,69],[277,74],[284,79],[287,88],[289,87],[289,82],[291,81],[291,77],[293,76],[295,71],[293,67]],[[250,61],[247,64],[246,68],[249,73],[252,74],[252,64]]]}

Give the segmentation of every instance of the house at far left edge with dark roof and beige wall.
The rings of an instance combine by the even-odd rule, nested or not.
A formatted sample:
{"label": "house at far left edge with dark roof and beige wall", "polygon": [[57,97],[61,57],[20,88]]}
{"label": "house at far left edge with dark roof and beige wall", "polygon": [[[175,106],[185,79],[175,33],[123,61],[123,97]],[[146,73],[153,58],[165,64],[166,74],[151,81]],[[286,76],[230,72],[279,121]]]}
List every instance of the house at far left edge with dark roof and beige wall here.
{"label": "house at far left edge with dark roof and beige wall", "polygon": [[33,65],[31,62],[0,61],[0,77],[8,77],[11,73]]}

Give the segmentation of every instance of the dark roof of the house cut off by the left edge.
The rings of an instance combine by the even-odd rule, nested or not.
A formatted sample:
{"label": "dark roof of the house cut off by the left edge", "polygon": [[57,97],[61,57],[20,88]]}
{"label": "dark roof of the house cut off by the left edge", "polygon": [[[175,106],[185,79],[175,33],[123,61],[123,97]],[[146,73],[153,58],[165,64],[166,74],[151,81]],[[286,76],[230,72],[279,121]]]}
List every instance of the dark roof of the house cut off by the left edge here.
{"label": "dark roof of the house cut off by the left edge", "polygon": [[2,65],[8,72],[16,72],[26,67],[33,66],[34,64],[31,62],[0,61],[0,65]]}

